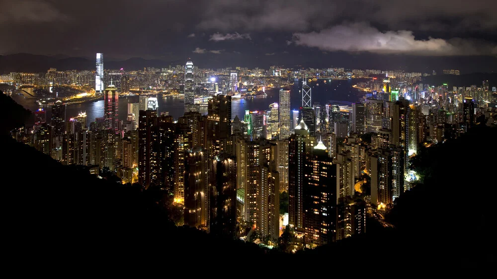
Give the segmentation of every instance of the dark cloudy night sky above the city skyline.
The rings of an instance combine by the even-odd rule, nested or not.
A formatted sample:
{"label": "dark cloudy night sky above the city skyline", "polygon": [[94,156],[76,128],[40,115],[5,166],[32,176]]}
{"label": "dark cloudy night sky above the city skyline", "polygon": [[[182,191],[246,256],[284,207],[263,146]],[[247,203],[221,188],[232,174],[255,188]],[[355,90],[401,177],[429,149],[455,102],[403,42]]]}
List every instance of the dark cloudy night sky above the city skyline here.
{"label": "dark cloudy night sky above the city skyline", "polygon": [[497,56],[496,10],[496,0],[0,0],[0,54],[467,61]]}

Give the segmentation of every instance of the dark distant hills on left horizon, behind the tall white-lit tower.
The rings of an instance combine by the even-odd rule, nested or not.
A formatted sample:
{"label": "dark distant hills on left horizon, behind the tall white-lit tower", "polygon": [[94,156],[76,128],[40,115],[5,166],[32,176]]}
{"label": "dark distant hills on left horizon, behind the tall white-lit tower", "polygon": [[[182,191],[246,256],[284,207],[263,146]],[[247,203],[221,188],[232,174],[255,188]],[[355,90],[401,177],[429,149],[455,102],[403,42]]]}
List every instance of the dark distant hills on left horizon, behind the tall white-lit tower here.
{"label": "dark distant hills on left horizon, behind the tall white-lit tower", "polygon": [[[124,61],[105,61],[105,69],[139,70],[145,67],[168,67],[171,62],[130,58]],[[7,72],[46,72],[50,68],[57,70],[95,70],[95,60],[65,55],[45,56],[27,53],[0,55],[0,73]]]}

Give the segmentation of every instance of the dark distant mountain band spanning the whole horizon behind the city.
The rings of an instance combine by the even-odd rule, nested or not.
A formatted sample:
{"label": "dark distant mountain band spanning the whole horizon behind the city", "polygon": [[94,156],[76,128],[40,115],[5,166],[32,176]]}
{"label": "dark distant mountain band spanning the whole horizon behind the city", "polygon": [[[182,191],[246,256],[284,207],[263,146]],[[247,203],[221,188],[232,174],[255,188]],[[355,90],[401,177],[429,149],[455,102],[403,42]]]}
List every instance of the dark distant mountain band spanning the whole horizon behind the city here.
{"label": "dark distant mountain band spanning the whole horizon behind the city", "polygon": [[[313,57],[319,57],[321,60],[319,62],[314,62],[311,60]],[[432,70],[436,70],[439,73],[443,69],[457,69],[461,70],[461,73],[497,72],[497,57],[492,56],[428,57],[331,52],[326,55],[322,53],[303,53],[301,55],[279,53],[269,57],[256,57],[255,59],[250,55],[226,53],[224,54],[223,59],[214,58],[209,54],[192,57],[196,66],[210,69],[228,66],[243,66],[248,68],[262,67],[267,69],[271,65],[284,65],[283,67],[294,69],[302,67],[328,68],[336,66],[345,67],[345,69],[396,69],[418,72],[431,72]],[[158,59],[147,60],[143,58],[130,58],[123,61],[109,60],[104,56],[104,69],[124,68],[125,70],[140,70],[147,67],[166,68],[169,65],[183,65],[186,62],[186,58],[174,61],[163,61]],[[0,74],[12,71],[46,72],[50,68],[56,68],[57,70],[94,70],[95,59],[90,57],[68,57],[63,54],[53,56],[26,53],[0,55]]]}

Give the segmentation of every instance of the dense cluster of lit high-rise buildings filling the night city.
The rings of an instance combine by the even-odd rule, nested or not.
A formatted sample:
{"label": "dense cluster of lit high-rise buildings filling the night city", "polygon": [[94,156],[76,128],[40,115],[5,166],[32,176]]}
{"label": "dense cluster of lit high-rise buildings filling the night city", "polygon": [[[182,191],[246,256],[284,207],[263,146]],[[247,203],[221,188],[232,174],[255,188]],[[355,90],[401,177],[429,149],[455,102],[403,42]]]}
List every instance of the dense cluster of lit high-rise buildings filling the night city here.
{"label": "dense cluster of lit high-rise buildings filling the night city", "polygon": [[[65,105],[56,101],[50,125],[40,109],[33,129],[18,129],[13,137],[63,164],[86,165],[96,174],[107,168],[123,183],[170,190],[174,203],[184,209],[185,225],[266,244],[274,243],[287,224],[280,215],[281,192],[289,194],[288,225],[306,247],[364,233],[368,208],[388,209],[412,187],[410,158],[420,144],[443,142],[477,122],[495,125],[497,119],[495,94],[486,81],[482,87],[451,89],[399,82],[386,74],[381,81],[375,76],[360,84],[368,89],[359,102],[338,106],[313,103],[307,74],[343,69],[278,68],[270,69],[273,76],[303,77],[298,111],[290,111],[290,91],[281,89],[279,102],[268,110],[232,119],[232,98],[247,85],[241,76],[261,78],[249,74],[257,69],[237,68],[229,70],[223,84],[212,80],[209,90],[214,92],[202,115],[195,98],[198,78],[206,72],[199,73],[188,61],[181,74],[177,68],[165,70],[181,75],[172,82],[182,83],[182,117],[159,115],[157,98],[141,95],[139,103],[128,104],[122,121],[119,94],[135,86],[133,74],[104,86],[101,58],[97,55],[93,78],[95,92],[104,97],[102,118],[87,125],[81,113],[66,121]],[[351,73],[381,74],[371,71]],[[368,180],[371,195],[357,195]]]}

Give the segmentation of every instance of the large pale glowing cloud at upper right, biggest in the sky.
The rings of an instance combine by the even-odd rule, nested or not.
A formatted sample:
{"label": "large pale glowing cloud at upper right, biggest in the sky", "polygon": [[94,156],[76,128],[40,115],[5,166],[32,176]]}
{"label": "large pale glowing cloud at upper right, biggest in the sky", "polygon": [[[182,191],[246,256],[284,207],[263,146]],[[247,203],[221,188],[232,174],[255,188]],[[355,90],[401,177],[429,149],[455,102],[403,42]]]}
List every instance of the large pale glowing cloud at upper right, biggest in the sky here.
{"label": "large pale glowing cloud at upper right, biggest in the sky", "polygon": [[412,31],[385,31],[365,23],[337,25],[319,32],[294,33],[296,45],[317,47],[324,51],[373,52],[425,56],[492,55],[497,44],[452,38],[449,40],[415,39]]}

